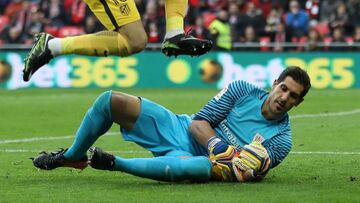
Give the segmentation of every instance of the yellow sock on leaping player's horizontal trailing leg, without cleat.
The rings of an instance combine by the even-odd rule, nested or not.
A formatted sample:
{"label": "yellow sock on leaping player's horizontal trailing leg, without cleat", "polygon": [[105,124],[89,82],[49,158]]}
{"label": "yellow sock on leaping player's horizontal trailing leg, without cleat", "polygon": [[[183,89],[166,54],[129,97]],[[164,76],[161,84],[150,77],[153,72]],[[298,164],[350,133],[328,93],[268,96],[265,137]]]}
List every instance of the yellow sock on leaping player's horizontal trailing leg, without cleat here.
{"label": "yellow sock on leaping player's horizontal trailing leg, without cleat", "polygon": [[94,34],[57,38],[56,40],[60,40],[60,45],[55,45],[56,41],[49,45],[51,53],[55,55],[129,56],[132,53],[128,39],[115,31],[101,31]]}

